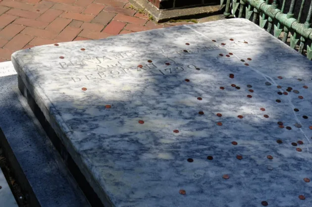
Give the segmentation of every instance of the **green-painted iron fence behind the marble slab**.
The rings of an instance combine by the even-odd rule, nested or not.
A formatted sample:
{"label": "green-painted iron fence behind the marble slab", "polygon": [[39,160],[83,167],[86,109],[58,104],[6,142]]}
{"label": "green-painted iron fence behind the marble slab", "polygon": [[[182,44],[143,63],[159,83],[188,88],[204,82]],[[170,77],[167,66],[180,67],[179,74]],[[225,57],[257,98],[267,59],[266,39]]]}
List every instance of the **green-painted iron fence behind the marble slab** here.
{"label": "green-painted iron fence behind the marble slab", "polygon": [[253,21],[312,59],[312,0],[226,0],[224,15],[231,13]]}

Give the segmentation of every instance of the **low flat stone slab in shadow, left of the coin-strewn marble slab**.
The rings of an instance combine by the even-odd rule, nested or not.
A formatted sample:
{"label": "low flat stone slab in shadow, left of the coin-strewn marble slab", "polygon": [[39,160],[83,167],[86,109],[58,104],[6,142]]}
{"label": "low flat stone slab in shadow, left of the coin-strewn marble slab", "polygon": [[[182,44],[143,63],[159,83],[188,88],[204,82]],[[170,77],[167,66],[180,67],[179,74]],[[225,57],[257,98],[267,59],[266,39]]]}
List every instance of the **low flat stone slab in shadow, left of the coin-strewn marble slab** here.
{"label": "low flat stone slab in shadow, left of the coin-strewn marble slab", "polygon": [[10,61],[0,63],[0,146],[29,206],[89,207],[18,91],[15,74]]}

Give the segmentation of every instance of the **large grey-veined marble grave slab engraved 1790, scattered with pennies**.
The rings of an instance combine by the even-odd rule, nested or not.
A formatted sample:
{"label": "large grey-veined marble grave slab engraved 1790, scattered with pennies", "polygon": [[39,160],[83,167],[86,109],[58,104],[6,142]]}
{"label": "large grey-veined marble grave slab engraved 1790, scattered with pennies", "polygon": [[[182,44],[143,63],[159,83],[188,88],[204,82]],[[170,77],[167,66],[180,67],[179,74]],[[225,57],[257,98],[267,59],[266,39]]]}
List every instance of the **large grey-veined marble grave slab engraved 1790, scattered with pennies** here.
{"label": "large grey-veined marble grave slab engraved 1790, scattered with pennies", "polygon": [[107,206],[312,204],[312,64],[248,20],[35,47],[12,62]]}

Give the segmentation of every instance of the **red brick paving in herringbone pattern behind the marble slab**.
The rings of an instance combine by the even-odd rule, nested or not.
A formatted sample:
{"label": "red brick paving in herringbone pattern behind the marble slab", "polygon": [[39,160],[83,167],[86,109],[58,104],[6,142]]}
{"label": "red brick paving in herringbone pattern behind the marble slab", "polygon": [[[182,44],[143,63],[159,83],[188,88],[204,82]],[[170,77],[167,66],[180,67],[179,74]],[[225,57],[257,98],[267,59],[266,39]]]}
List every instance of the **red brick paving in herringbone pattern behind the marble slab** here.
{"label": "red brick paving in herringbone pattern behind the marble slab", "polygon": [[128,0],[0,0],[0,62],[34,46],[186,23],[155,24],[129,7]]}

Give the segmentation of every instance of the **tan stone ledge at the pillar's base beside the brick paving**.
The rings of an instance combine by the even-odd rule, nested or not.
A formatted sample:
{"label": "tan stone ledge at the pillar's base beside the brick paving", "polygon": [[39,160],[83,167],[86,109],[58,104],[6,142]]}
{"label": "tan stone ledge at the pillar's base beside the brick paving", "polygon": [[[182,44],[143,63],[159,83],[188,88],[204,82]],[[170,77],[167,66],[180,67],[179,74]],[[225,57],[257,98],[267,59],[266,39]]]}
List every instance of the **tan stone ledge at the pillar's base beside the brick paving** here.
{"label": "tan stone ledge at the pillar's base beside the brick paving", "polygon": [[221,14],[222,5],[209,5],[194,8],[182,8],[173,10],[158,10],[152,3],[146,0],[129,0],[136,8],[149,12],[156,22],[165,22],[170,19],[190,19]]}

